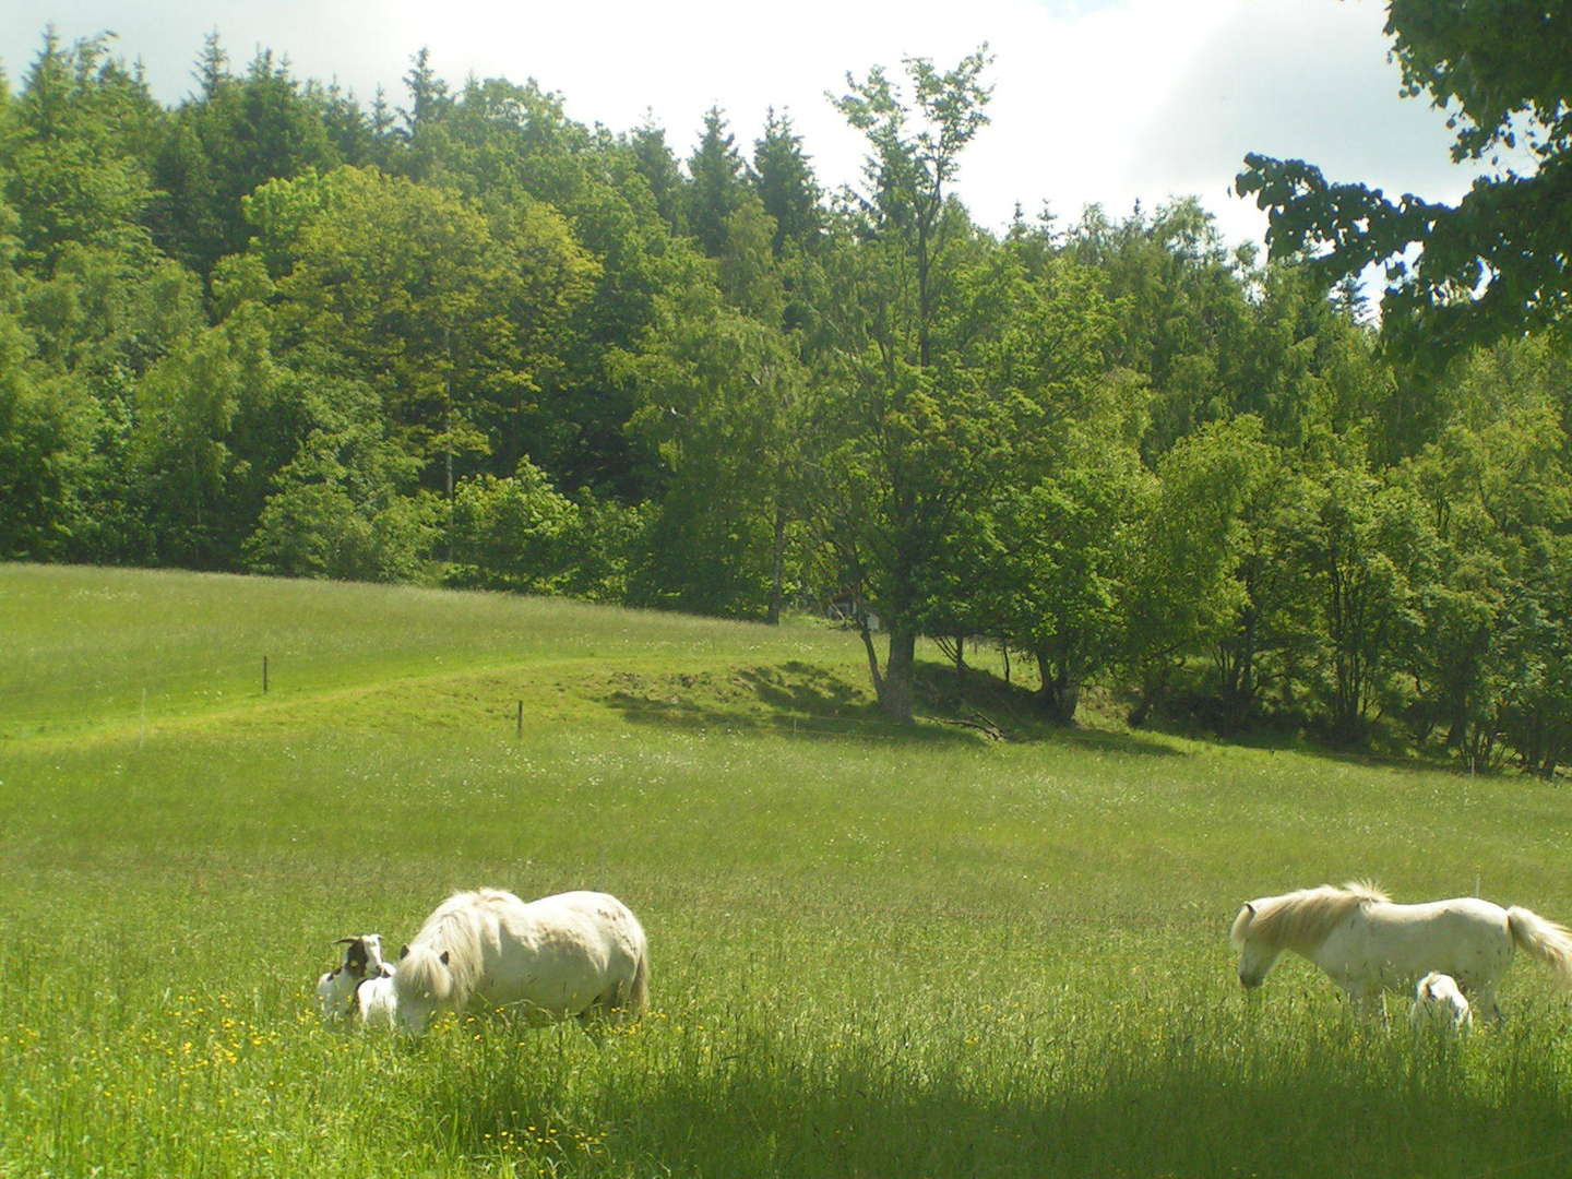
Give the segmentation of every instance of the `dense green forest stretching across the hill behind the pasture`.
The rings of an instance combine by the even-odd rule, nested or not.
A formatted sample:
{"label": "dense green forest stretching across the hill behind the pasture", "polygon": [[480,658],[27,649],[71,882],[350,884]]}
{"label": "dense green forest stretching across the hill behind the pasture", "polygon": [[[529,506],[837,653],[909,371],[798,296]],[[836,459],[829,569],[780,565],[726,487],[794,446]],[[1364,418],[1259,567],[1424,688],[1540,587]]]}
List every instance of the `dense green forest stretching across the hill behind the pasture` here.
{"label": "dense green forest stretching across the hill behind the pasture", "polygon": [[989,231],[986,74],[849,79],[827,192],[784,115],[679,159],[426,53],[366,107],[217,38],[168,108],[46,33],[0,85],[0,558],[838,602],[896,718],[951,637],[1061,722],[1097,684],[1553,773],[1566,335],[1418,363],[1193,200]]}

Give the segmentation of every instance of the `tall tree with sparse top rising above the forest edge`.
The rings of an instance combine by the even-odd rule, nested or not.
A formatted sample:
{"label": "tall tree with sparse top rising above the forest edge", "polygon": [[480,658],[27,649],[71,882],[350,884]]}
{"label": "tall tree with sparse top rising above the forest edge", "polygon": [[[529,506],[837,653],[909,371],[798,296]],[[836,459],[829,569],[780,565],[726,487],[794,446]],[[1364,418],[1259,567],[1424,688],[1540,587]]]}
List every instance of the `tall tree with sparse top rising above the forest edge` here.
{"label": "tall tree with sparse top rising above the forest edge", "polygon": [[868,193],[846,211],[828,302],[828,351],[819,527],[843,577],[888,629],[880,667],[865,626],[880,707],[912,715],[913,660],[923,577],[942,553],[962,498],[986,478],[992,434],[987,395],[967,371],[956,335],[978,294],[964,270],[976,233],[948,200],[960,151],[987,123],[986,57],[940,72],[907,60],[905,101],[883,69],[835,99],[869,146]]}

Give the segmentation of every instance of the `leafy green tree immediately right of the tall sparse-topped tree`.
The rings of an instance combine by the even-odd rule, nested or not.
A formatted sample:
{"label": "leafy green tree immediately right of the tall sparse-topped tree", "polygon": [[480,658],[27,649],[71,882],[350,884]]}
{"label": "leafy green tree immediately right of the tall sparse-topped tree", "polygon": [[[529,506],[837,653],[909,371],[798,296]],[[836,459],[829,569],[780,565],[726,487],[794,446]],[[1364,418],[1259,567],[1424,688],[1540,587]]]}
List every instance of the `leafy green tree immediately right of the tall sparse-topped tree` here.
{"label": "leafy green tree immediately right of the tall sparse-topped tree", "polygon": [[[1022,277],[1023,247],[1008,253]],[[1130,527],[1149,498],[1138,454],[1149,395],[1138,374],[1107,369],[1113,316],[1096,275],[1069,259],[1036,269],[995,351],[1000,376],[1036,413],[1006,426],[1014,454],[992,456],[997,481],[951,542],[962,556],[945,561],[938,601],[949,612],[973,604],[970,629],[1030,652],[1044,712],[1069,723],[1082,687],[1118,652]]]}

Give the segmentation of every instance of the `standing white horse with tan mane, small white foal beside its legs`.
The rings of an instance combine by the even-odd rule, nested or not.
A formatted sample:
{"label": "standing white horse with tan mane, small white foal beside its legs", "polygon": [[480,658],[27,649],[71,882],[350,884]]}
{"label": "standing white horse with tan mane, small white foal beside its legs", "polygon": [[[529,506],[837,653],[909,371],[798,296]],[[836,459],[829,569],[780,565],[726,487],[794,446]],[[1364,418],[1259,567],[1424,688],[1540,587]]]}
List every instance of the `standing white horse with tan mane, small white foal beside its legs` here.
{"label": "standing white horse with tan mane, small white foal beside its legs", "polygon": [[1368,883],[1302,888],[1250,901],[1229,940],[1245,987],[1261,986],[1278,954],[1292,949],[1325,970],[1364,1016],[1382,1009],[1383,990],[1410,994],[1434,970],[1451,975],[1481,1014],[1500,1020],[1495,990],[1514,948],[1572,986],[1572,932],[1475,896],[1399,905]]}

